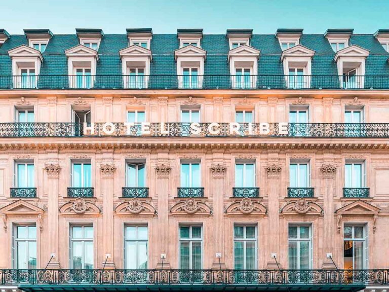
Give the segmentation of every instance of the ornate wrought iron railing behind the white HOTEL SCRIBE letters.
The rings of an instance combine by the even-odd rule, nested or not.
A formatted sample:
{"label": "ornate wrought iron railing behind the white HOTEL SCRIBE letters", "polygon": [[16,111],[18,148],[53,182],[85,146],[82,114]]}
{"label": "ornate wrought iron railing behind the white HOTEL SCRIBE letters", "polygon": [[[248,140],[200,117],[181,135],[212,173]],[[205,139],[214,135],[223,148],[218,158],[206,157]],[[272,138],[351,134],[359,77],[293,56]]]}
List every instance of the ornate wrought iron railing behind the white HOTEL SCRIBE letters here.
{"label": "ornate wrought iron railing behind the white HOTEL SCRIBE letters", "polygon": [[150,123],[142,133],[135,123],[0,123],[0,138],[17,137],[283,137],[283,138],[388,138],[389,123],[288,123],[280,131],[279,123],[268,123],[268,132],[260,123],[241,123],[231,131],[229,123]]}

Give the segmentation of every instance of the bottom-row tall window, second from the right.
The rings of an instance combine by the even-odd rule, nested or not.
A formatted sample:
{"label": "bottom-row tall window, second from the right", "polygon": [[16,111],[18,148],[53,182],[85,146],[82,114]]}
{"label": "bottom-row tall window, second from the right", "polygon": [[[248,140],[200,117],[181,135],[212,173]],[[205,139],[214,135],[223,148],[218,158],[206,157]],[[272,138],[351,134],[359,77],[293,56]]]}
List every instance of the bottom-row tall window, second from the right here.
{"label": "bottom-row tall window, second from the right", "polygon": [[312,269],[312,230],[310,226],[289,226],[289,269]]}

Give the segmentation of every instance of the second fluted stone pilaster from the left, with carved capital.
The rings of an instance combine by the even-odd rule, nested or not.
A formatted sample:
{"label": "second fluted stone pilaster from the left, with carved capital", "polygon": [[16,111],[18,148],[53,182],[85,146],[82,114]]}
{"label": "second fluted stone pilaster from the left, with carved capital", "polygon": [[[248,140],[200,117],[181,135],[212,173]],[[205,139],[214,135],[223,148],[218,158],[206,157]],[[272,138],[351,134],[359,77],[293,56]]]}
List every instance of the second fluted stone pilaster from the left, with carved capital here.
{"label": "second fluted stone pilaster from the left, with carved capital", "polygon": [[[101,264],[105,269],[114,268],[113,263],[113,173],[116,167],[113,164],[100,164],[101,172],[101,196],[103,198],[103,252],[104,261]],[[108,255],[108,259],[107,259]]]}

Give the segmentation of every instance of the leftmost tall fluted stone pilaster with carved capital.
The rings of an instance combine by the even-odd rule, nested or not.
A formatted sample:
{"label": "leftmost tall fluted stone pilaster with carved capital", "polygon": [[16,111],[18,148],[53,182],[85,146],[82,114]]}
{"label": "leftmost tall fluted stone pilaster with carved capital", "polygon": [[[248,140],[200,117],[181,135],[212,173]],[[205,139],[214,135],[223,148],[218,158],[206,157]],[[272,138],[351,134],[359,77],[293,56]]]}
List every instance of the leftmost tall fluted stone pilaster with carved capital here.
{"label": "leftmost tall fluted stone pilaster with carved capital", "polygon": [[48,178],[48,248],[44,249],[44,259],[49,262],[48,269],[59,269],[58,261],[58,178],[60,172],[59,164],[46,164],[45,171]]}

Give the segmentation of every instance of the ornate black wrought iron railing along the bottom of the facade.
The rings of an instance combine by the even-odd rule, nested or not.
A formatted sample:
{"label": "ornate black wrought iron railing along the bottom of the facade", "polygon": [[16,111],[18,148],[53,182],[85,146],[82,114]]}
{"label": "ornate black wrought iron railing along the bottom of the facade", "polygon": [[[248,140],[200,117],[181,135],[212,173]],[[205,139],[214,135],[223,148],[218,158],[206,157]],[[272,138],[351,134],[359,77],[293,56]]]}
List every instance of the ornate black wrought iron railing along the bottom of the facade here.
{"label": "ornate black wrought iron railing along the bottom of the facade", "polygon": [[[187,285],[196,284],[204,288],[209,285],[231,285],[231,288],[246,289],[249,284],[264,288],[265,285],[283,286],[298,285],[313,288],[328,286],[329,290],[358,291],[367,285],[389,284],[389,270],[0,270],[1,285],[23,284],[34,285],[40,291],[55,289],[55,285],[61,285],[61,289],[72,288],[76,285],[85,286],[104,284],[112,286],[129,285],[160,285],[170,288],[168,285],[188,288]],[[236,284],[239,284],[236,285]],[[42,286],[41,286],[42,285]],[[260,286],[258,286],[260,285]],[[106,286],[105,286],[106,287]],[[255,286],[251,286],[252,288]],[[347,288],[348,287],[348,288]],[[42,289],[41,289],[42,288]],[[127,287],[128,288],[128,287]],[[88,288],[87,288],[88,289]],[[160,290],[159,289],[159,290]],[[351,290],[349,290],[351,289]],[[27,291],[30,291],[27,289]]]}

